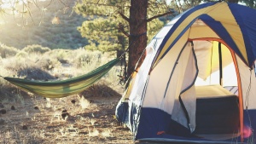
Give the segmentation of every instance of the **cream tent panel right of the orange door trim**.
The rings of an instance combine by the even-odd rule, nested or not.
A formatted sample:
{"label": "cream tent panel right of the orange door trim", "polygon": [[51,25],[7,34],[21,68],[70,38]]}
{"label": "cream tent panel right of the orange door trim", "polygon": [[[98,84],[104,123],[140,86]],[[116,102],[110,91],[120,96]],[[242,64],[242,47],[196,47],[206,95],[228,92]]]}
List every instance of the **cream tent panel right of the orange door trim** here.
{"label": "cream tent panel right of the orange door trim", "polygon": [[[241,77],[241,89],[243,107],[246,109],[256,109],[256,77],[254,71],[250,71],[244,62],[236,55],[239,73]],[[250,77],[249,77],[250,76]],[[248,91],[248,92],[247,92]]]}

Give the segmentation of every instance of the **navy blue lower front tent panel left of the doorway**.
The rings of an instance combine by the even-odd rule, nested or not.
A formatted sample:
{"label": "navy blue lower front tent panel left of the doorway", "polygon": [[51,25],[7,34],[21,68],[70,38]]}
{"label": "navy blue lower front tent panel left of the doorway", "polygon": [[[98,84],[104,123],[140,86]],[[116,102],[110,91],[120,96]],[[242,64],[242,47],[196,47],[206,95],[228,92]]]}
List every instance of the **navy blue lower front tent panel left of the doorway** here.
{"label": "navy blue lower front tent panel left of the doorway", "polygon": [[[142,108],[140,122],[138,124],[136,139],[148,137],[172,137],[172,139],[187,139],[188,137],[195,140],[197,136],[190,133],[190,130],[177,124],[172,120],[172,115],[161,111],[157,108]],[[163,132],[158,134],[159,132]]]}

